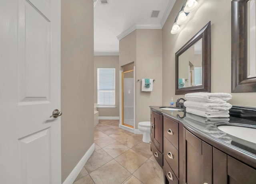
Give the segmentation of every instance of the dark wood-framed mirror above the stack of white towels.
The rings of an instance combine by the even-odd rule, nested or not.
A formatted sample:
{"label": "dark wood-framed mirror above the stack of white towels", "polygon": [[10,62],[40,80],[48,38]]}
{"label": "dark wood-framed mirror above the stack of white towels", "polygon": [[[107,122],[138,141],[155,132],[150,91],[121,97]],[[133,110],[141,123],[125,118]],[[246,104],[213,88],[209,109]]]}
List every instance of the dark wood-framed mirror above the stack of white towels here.
{"label": "dark wood-framed mirror above the stack of white towels", "polygon": [[211,22],[175,53],[175,94],[210,92]]}

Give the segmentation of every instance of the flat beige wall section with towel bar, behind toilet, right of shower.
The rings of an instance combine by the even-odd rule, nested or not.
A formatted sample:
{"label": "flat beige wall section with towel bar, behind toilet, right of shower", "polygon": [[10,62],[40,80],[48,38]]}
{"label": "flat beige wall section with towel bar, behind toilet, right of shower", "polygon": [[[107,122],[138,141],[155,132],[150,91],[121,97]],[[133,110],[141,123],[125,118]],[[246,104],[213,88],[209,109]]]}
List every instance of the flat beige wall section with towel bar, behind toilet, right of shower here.
{"label": "flat beige wall section with towel bar, behind toilet, right of shower", "polygon": [[[136,34],[136,129],[140,121],[150,121],[149,106],[162,105],[162,30],[137,29]],[[152,92],[141,91],[138,79],[153,78]]]}

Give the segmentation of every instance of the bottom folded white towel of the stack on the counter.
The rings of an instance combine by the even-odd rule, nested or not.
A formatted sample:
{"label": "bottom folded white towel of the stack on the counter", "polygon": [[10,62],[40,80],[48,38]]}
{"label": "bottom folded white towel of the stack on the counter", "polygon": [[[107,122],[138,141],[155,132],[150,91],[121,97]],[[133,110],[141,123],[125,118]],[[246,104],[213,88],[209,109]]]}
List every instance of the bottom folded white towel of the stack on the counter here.
{"label": "bottom folded white towel of the stack on the counter", "polygon": [[219,112],[206,112],[198,109],[192,109],[192,108],[186,108],[186,112],[195,114],[195,115],[200,115],[202,117],[229,117],[230,115],[228,114],[229,111],[219,111]]}

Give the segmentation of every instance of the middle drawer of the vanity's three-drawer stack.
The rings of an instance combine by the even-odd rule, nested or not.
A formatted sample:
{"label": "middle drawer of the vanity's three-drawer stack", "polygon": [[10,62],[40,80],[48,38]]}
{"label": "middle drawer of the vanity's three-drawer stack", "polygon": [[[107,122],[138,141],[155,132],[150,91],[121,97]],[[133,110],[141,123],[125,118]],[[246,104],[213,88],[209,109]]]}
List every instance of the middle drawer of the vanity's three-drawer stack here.
{"label": "middle drawer of the vanity's three-drawer stack", "polygon": [[166,137],[164,138],[164,158],[171,166],[174,174],[179,178],[179,152]]}

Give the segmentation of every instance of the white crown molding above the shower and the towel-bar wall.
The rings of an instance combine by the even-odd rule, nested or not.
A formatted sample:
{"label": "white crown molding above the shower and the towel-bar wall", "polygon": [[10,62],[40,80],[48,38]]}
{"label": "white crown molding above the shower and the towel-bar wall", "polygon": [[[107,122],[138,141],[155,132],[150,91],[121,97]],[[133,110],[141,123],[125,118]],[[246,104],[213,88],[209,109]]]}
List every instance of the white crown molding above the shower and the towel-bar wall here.
{"label": "white crown molding above the shower and the towel-bar wall", "polygon": [[135,29],[162,29],[162,27],[160,23],[135,23],[134,25],[132,25],[132,27],[126,29],[124,32],[117,36],[118,41],[126,37]]}

